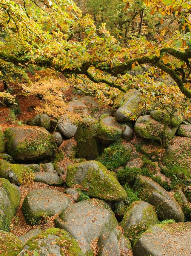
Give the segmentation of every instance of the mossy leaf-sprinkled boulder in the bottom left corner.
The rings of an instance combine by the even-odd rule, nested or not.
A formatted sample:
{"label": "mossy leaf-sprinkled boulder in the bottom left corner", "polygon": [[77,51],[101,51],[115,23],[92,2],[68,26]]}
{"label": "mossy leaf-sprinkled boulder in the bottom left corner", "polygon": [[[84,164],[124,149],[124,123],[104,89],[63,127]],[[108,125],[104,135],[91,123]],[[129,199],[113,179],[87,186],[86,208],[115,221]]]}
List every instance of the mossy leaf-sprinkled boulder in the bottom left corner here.
{"label": "mossy leaf-sprinkled boulder in the bottom left corner", "polygon": [[0,255],[17,256],[23,248],[23,243],[13,234],[0,230]]}

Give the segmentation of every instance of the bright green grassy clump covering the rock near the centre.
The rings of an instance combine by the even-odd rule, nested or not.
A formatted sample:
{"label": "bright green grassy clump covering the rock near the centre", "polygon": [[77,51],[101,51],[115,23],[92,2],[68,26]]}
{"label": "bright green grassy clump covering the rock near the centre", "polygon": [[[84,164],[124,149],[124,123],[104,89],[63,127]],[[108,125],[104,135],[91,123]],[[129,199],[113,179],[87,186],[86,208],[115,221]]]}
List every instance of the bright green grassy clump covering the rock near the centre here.
{"label": "bright green grassy clump covering the rock near the centre", "polygon": [[108,170],[112,171],[115,168],[125,165],[130,159],[130,154],[130,150],[118,141],[104,149],[99,161]]}

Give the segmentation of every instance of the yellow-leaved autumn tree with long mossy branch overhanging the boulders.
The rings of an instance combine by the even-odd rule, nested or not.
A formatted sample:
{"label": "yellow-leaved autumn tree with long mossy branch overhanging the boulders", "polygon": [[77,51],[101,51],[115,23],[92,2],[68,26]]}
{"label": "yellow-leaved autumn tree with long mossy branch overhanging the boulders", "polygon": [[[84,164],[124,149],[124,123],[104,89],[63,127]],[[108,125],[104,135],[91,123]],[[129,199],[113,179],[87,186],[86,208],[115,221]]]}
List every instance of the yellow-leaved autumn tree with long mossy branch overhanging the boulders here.
{"label": "yellow-leaved autumn tree with long mossy branch overhanging the boulders", "polygon": [[[96,28],[93,19],[88,14],[83,16],[71,0],[1,0],[1,80],[7,83],[21,77],[30,82],[27,72],[42,67],[76,81],[75,88],[80,90],[80,80],[91,83],[92,90],[87,94],[96,95],[99,89],[127,92],[134,87],[142,93],[143,107],[158,101],[168,109],[173,102],[174,109],[190,113],[191,5],[186,0],[144,3],[151,15],[169,17],[176,29],[164,24],[154,40],[132,37],[124,46],[105,23]],[[133,3],[124,0],[124,4],[128,9]],[[164,20],[159,22],[163,24]],[[132,77],[127,71],[141,65],[145,74],[129,87]],[[156,74],[169,75],[176,84],[156,83]],[[3,93],[1,97],[9,96],[6,90]]]}

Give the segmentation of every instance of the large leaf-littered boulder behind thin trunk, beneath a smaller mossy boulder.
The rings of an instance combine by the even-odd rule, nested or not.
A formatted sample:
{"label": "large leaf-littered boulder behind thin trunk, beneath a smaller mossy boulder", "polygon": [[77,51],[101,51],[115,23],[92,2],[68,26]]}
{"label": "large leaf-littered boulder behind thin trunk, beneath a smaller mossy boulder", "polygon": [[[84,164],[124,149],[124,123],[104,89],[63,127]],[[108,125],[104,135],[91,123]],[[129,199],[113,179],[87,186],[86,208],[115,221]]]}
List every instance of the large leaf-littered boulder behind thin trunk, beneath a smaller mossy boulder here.
{"label": "large leaf-littered boulder behind thin trunk, beneath a smaller mossy boulder", "polygon": [[[167,136],[171,140],[178,127],[168,127]],[[150,115],[140,116],[135,122],[135,132],[142,138],[162,141],[163,124],[155,121]]]}

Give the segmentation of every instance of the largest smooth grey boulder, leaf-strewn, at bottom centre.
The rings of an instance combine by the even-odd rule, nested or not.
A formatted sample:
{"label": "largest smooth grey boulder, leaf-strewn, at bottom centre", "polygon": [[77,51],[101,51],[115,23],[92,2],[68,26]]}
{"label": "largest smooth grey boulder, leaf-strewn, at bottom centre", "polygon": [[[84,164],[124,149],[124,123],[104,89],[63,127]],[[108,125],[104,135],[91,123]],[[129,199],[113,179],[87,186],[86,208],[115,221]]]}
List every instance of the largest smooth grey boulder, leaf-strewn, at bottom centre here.
{"label": "largest smooth grey boulder, leaf-strewn, at bottom centre", "polygon": [[91,250],[92,240],[113,231],[118,225],[107,204],[98,199],[88,199],[67,207],[55,219],[55,224],[78,240],[83,252]]}

